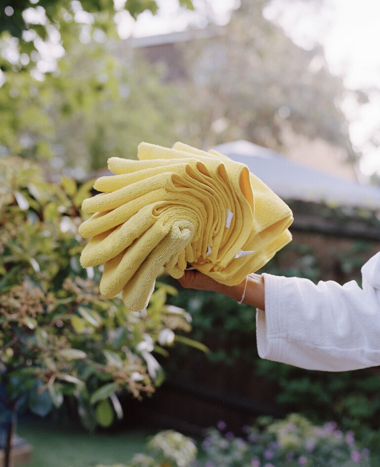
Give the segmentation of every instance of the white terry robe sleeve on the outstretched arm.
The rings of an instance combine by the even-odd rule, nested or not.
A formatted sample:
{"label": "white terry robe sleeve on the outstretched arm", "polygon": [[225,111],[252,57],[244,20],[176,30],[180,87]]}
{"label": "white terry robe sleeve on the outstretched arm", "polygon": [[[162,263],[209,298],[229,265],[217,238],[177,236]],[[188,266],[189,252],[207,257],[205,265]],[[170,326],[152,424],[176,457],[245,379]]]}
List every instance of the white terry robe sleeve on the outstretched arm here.
{"label": "white terry robe sleeve on the outstretched arm", "polygon": [[324,371],[380,365],[380,252],[362,267],[363,288],[263,276],[265,311],[256,314],[261,358]]}

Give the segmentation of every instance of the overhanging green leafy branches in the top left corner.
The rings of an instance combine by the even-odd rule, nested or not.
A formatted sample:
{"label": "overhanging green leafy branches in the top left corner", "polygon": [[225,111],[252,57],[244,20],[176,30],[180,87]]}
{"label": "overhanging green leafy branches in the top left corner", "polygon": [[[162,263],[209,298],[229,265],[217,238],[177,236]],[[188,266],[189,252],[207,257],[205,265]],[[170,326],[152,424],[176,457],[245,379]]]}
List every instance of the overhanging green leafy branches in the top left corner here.
{"label": "overhanging green leafy branches in the top left corner", "polygon": [[[178,0],[186,8],[193,8],[192,0]],[[157,11],[156,0],[3,0],[0,6],[0,48],[9,48],[0,60],[0,69],[18,70],[30,60],[38,61],[41,50],[52,44],[66,48],[78,41],[84,26],[92,31],[115,34],[116,14],[127,11],[134,19],[143,11]],[[70,37],[67,29],[76,25]]]}

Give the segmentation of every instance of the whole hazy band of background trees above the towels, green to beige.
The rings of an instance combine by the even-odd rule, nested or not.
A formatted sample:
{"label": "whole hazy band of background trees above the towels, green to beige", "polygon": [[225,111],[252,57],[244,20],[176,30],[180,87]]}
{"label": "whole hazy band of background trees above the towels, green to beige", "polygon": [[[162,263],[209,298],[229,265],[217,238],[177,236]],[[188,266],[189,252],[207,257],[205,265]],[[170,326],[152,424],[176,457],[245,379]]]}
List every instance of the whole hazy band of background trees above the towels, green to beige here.
{"label": "whole hazy band of background trees above the towels, green to beige", "polygon": [[[109,156],[134,157],[142,140],[207,148],[247,139],[284,151],[296,134],[355,160],[342,80],[321,48],[300,49],[263,17],[266,2],[242,1],[210,39],[173,44],[185,77],[169,81],[165,64],[115,30],[115,11],[155,11],[154,1],[12,2],[0,17],[0,154],[49,159],[82,177]],[[42,8],[43,24],[26,23],[27,5]]]}

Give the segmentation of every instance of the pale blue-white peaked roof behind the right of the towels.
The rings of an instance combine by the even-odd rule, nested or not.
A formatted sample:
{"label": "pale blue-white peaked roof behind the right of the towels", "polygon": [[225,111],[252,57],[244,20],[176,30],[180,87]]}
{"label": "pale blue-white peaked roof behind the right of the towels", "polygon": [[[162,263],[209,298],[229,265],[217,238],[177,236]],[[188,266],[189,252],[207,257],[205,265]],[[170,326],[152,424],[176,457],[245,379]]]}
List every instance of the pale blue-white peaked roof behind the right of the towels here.
{"label": "pale blue-white peaked roof behind the right of the towels", "polygon": [[380,210],[380,187],[311,169],[249,141],[232,141],[214,149],[246,164],[254,175],[285,200]]}

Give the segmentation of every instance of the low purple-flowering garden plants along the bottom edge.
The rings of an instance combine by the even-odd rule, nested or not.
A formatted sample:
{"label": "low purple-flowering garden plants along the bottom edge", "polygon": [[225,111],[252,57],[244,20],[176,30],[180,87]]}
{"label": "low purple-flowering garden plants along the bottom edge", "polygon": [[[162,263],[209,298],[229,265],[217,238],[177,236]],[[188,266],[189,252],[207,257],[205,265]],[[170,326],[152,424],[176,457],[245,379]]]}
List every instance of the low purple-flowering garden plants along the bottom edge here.
{"label": "low purple-flowering garden plants along the bottom edge", "polygon": [[[331,421],[322,426],[290,414],[260,417],[235,436],[220,420],[197,450],[195,442],[172,430],[155,435],[146,453],[112,467],[368,467],[369,451],[359,449],[352,431]],[[199,456],[198,456],[199,454]],[[97,466],[106,467],[106,466]],[[111,466],[108,466],[111,467]]]}

